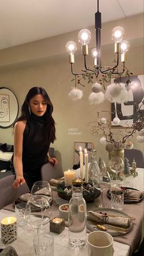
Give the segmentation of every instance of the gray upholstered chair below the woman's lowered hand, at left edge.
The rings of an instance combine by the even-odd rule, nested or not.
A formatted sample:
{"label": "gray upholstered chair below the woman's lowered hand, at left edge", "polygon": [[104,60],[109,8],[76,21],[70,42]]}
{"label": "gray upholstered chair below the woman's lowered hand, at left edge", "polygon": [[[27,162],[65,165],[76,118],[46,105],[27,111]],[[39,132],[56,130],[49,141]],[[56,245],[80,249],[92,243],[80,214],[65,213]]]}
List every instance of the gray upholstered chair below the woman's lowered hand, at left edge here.
{"label": "gray upholstered chair below the woman's lowered hand, at left edge", "polygon": [[18,197],[21,195],[30,192],[26,183],[21,185],[18,189],[14,189],[12,186],[14,180],[15,175],[9,175],[0,179],[0,209],[4,208],[10,203],[13,203],[13,201],[18,199]]}

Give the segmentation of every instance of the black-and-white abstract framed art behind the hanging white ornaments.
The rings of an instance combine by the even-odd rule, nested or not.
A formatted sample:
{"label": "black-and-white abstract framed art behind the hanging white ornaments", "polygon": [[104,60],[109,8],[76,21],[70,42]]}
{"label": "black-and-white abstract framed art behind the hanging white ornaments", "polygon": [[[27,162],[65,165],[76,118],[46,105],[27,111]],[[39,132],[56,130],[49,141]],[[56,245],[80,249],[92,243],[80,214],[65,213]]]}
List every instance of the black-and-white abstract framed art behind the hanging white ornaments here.
{"label": "black-and-white abstract framed art behind the hanging white ornaments", "polygon": [[[144,75],[131,76],[130,78],[131,84],[129,84],[128,88],[128,102],[127,103],[112,103],[111,104],[111,125],[112,127],[131,127],[133,123],[135,123],[139,119],[139,112],[137,112],[140,108],[140,111],[144,114],[143,108],[143,97],[144,97],[144,87],[143,87],[143,79]],[[118,78],[117,82],[124,82],[128,80],[127,77]],[[115,109],[117,109],[117,114]],[[118,116],[120,119],[120,123],[113,123],[113,119]]]}

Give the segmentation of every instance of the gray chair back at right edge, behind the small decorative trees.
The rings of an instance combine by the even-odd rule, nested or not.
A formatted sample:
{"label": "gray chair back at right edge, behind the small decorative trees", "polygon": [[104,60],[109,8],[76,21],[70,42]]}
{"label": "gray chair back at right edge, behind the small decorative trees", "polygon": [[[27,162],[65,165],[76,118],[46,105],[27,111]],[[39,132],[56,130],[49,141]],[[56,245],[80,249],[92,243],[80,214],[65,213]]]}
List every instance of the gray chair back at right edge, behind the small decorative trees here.
{"label": "gray chair back at right edge, behind the small decorative trees", "polygon": [[135,162],[137,163],[138,168],[144,167],[144,156],[142,151],[140,151],[139,149],[134,149],[134,148],[132,148],[131,150],[125,149],[124,157],[128,158],[130,165],[132,165],[132,161],[133,159],[135,159]]}

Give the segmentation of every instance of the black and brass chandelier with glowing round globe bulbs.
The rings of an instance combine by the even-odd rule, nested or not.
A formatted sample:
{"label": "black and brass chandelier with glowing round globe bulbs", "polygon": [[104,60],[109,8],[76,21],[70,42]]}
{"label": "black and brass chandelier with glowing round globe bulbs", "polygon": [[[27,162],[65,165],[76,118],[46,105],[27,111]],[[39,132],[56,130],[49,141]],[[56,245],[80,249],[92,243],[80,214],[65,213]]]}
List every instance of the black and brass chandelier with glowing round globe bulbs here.
{"label": "black and brass chandelier with glowing round globe bulbs", "polygon": [[114,75],[121,75],[125,70],[126,52],[129,49],[129,42],[124,40],[124,29],[121,26],[114,27],[112,30],[112,40],[115,41],[115,54],[117,58],[114,61],[113,67],[103,67],[101,64],[101,12],[99,12],[99,0],[98,0],[98,10],[95,13],[95,31],[96,31],[96,48],[92,49],[91,54],[94,59],[92,67],[87,67],[86,57],[88,55],[88,43],[90,42],[92,36],[88,29],[82,29],[78,34],[78,40],[82,44],[82,55],[84,56],[84,67],[82,73],[74,73],[74,52],[77,49],[75,42],[70,41],[66,44],[66,49],[69,53],[69,63],[71,64],[71,73],[75,76],[85,75],[85,72],[95,74],[98,78],[99,73],[107,74],[111,73]]}

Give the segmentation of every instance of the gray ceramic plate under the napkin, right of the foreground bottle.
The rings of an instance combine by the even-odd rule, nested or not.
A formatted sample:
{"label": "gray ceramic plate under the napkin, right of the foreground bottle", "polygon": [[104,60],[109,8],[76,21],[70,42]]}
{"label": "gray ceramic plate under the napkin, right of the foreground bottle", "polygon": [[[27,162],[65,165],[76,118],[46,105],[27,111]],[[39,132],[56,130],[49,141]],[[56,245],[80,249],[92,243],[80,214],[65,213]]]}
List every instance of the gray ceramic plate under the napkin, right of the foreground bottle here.
{"label": "gray ceramic plate under the napkin, right of the foreground bottle", "polygon": [[[107,214],[118,215],[118,216],[123,216],[123,217],[129,218],[129,215],[124,213],[123,211],[118,211],[118,210],[114,210],[114,209],[110,209],[110,208],[97,208],[95,210],[96,213],[99,213],[100,211],[102,211],[103,213],[107,213]],[[98,227],[96,227],[96,224],[98,224],[98,222],[96,223],[95,221],[87,220],[87,229],[89,229],[91,231],[99,231]],[[102,224],[102,225],[106,225],[106,224]],[[131,221],[130,227],[128,227],[128,229],[124,230],[124,232],[122,230],[118,231],[118,230],[110,229],[110,227],[107,226],[106,232],[112,236],[124,235],[125,233],[128,233],[131,231],[132,225],[133,224]]]}

